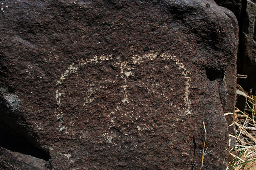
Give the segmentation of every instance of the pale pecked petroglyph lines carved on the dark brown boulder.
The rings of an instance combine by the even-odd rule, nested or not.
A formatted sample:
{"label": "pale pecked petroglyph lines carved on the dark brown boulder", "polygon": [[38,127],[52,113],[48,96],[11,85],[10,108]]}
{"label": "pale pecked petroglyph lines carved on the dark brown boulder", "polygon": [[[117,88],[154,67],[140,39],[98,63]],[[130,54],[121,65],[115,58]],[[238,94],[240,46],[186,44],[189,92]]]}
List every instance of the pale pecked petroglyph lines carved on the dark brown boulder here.
{"label": "pale pecked petroglyph lines carved on the dark brown boulder", "polygon": [[[120,106],[122,106],[122,104],[125,104],[125,103],[128,103],[130,104],[132,107],[136,108],[136,105],[134,106],[129,98],[128,98],[128,92],[126,90],[127,88],[127,78],[129,76],[132,75],[132,68],[130,68],[129,64],[140,64],[140,63],[143,63],[144,61],[148,61],[148,60],[172,60],[175,62],[175,64],[178,66],[178,69],[182,71],[182,75],[184,76],[185,80],[186,80],[186,86],[185,86],[185,93],[184,93],[184,107],[186,108],[184,113],[178,113],[179,116],[186,116],[186,115],[189,115],[191,114],[191,111],[190,111],[190,104],[191,104],[191,101],[189,100],[189,94],[190,94],[190,76],[191,76],[191,73],[185,68],[184,64],[182,63],[182,61],[180,59],[178,59],[178,57],[176,57],[175,55],[166,55],[166,54],[161,54],[159,55],[159,53],[150,53],[150,54],[145,54],[145,55],[134,55],[132,57],[132,60],[131,61],[124,61],[124,62],[118,62],[116,61],[115,65],[118,66],[120,68],[120,74],[118,76],[120,76],[122,79],[123,79],[123,86],[122,86],[122,93],[123,93],[123,100],[120,101],[120,103],[118,104],[118,106],[110,111],[110,115],[112,115],[112,118],[110,120],[110,122],[108,122],[108,125],[109,125],[109,129],[111,127],[114,127],[114,119],[115,119],[115,112],[120,110]],[[59,131],[62,131],[62,130],[65,130],[66,133],[70,133],[68,128],[65,127],[63,125],[63,120],[62,120],[62,117],[63,117],[63,114],[62,112],[60,111],[60,107],[61,107],[61,97],[63,95],[65,95],[64,93],[60,92],[61,91],[61,87],[60,85],[64,82],[64,80],[66,79],[66,77],[72,73],[75,73],[77,72],[77,70],[79,68],[81,68],[82,66],[86,66],[86,65],[93,65],[93,64],[99,64],[99,63],[103,63],[103,62],[106,62],[108,60],[112,60],[112,55],[101,55],[100,57],[98,56],[94,56],[93,59],[86,59],[85,61],[83,59],[80,59],[78,60],[78,64],[71,64],[68,69],[63,73],[61,74],[60,76],[60,79],[56,82],[56,93],[55,93],[55,98],[56,98],[56,102],[57,102],[57,105],[58,105],[58,108],[55,110],[55,116],[57,117],[57,119],[59,120],[59,127],[58,127],[58,130]],[[166,69],[168,69],[168,66],[165,66]],[[104,81],[105,85],[107,86],[108,83],[115,83],[114,81],[112,80],[105,80]],[[140,84],[142,84],[140,82]],[[90,88],[88,89],[88,91],[90,91],[89,93],[90,94],[94,94],[96,92],[96,90],[100,90],[100,88],[107,88],[104,86],[104,84],[94,84],[94,88]],[[159,84],[152,84],[152,86],[159,86]],[[145,88],[147,88],[145,86]],[[148,89],[150,91],[150,89]],[[155,91],[152,91],[153,93],[158,93],[158,92],[155,92]],[[90,95],[89,95],[90,96]],[[163,94],[164,96],[164,94]],[[164,96],[165,97],[165,96]],[[166,97],[165,97],[166,98]],[[166,98],[168,100],[168,98]],[[89,104],[91,102],[93,102],[94,98],[88,98],[83,106],[86,106],[86,104]],[[172,102],[171,102],[172,103]],[[137,113],[138,114],[138,113]],[[134,115],[134,113],[131,113],[132,116],[134,116],[135,119],[137,119],[138,117],[140,117],[139,115],[136,116]],[[126,116],[126,114],[125,114]],[[104,132],[104,135],[105,137],[105,140],[107,142],[111,142],[111,139],[114,137],[110,136],[110,133],[105,131]],[[84,138],[84,136],[83,136]]]}

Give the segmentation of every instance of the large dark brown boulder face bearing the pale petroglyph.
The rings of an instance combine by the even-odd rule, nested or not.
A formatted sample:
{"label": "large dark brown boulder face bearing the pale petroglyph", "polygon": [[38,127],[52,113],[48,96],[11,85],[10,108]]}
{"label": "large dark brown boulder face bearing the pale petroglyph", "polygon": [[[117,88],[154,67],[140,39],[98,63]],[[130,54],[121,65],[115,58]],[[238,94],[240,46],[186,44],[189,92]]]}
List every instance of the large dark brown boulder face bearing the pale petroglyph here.
{"label": "large dark brown boulder face bearing the pale petroglyph", "polygon": [[[226,169],[224,75],[237,48],[227,10],[212,0],[1,8],[0,128],[44,154],[28,159],[56,170],[196,170],[204,121],[202,169]],[[9,168],[17,151],[4,148],[0,163]]]}

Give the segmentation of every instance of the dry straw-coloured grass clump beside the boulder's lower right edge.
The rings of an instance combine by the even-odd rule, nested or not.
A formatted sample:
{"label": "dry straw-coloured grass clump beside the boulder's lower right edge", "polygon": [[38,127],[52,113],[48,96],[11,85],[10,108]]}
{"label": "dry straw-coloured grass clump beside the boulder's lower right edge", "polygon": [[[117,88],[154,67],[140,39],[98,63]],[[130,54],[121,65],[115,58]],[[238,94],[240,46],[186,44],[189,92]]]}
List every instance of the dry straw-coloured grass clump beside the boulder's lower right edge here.
{"label": "dry straw-coloured grass clump beside the boulder's lower right edge", "polygon": [[247,96],[246,111],[234,113],[236,146],[230,150],[229,170],[256,170],[256,96],[248,95],[241,86],[238,89]]}

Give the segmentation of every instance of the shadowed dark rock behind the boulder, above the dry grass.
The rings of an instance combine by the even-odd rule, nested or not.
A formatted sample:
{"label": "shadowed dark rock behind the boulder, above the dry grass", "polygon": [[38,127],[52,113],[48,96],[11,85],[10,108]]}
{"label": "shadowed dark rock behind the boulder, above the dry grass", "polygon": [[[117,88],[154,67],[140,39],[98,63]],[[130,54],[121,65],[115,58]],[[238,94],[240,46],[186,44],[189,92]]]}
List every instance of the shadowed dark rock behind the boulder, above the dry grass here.
{"label": "shadowed dark rock behind the boulder, above the dry grass", "polygon": [[256,0],[215,0],[236,14],[239,24],[237,73],[247,76],[238,78],[244,90],[256,95]]}

